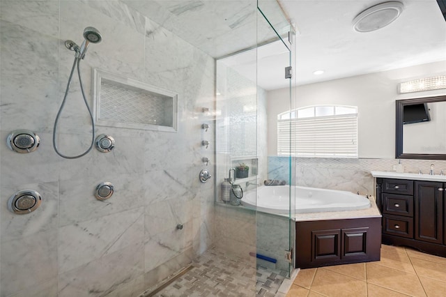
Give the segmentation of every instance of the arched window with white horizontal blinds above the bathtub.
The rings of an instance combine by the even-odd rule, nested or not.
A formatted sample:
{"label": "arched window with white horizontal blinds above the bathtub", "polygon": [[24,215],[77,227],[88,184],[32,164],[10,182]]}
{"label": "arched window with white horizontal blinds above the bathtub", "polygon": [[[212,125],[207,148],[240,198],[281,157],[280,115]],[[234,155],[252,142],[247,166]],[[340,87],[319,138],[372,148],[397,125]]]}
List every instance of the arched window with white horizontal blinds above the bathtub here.
{"label": "arched window with white horizontal blinds above the bathtub", "polygon": [[317,105],[278,114],[277,154],[357,158],[357,107]]}

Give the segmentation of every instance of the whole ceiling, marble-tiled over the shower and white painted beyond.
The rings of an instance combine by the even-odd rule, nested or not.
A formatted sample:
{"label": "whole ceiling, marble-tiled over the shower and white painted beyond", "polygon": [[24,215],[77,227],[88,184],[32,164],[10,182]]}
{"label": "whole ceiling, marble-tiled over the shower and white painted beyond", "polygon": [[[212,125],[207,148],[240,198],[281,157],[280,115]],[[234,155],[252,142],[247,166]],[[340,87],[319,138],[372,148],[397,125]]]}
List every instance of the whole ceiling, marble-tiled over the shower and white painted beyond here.
{"label": "whole ceiling, marble-tiled over the shower and white painted beyond", "polygon": [[[216,59],[275,36],[253,0],[121,0]],[[298,84],[446,61],[446,22],[436,0],[399,0],[401,16],[377,31],[353,31],[353,18],[387,0],[279,0],[298,31],[293,68]],[[253,4],[254,3],[254,4]],[[272,0],[259,6],[280,34],[284,17]],[[152,32],[148,31],[146,35]],[[263,89],[289,85],[283,43],[238,54],[225,63],[253,75]],[[313,75],[314,70],[325,70]]]}

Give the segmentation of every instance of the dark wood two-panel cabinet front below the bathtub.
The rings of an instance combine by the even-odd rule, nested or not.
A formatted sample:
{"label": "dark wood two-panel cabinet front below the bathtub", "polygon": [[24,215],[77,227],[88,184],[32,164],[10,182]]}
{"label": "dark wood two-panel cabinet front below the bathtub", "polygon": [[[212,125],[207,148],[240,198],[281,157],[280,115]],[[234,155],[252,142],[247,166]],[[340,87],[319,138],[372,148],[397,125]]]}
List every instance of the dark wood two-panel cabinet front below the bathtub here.
{"label": "dark wood two-panel cabinet front below the bathtub", "polygon": [[381,218],[298,221],[295,267],[380,260]]}

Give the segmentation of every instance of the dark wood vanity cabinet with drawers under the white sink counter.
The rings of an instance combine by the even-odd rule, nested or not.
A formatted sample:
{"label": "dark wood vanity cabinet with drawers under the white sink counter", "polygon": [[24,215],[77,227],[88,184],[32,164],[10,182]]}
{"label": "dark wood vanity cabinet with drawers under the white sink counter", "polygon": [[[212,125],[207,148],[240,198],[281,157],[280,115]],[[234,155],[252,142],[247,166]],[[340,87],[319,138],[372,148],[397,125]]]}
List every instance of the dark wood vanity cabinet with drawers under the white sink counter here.
{"label": "dark wood vanity cabinet with drawers under the white sink counter", "polygon": [[446,183],[376,178],[383,243],[446,257]]}

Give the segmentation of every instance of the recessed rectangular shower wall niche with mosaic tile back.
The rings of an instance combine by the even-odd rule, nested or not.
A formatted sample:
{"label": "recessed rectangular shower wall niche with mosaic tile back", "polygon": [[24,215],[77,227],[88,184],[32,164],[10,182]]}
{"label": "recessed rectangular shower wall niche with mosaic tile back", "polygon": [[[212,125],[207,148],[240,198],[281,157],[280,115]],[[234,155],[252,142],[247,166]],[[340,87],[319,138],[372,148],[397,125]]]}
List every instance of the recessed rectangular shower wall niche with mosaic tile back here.
{"label": "recessed rectangular shower wall niche with mosaic tile back", "polygon": [[177,93],[93,69],[93,100],[97,125],[177,131]]}

